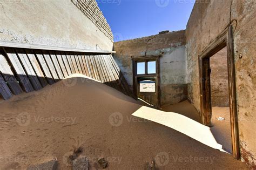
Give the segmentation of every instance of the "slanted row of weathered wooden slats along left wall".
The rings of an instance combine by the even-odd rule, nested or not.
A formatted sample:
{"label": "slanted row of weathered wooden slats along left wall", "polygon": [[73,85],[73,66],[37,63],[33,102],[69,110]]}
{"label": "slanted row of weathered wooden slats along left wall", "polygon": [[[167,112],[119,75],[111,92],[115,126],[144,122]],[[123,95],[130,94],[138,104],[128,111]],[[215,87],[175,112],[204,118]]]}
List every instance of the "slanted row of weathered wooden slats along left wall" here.
{"label": "slanted row of weathered wooden slats along left wall", "polygon": [[0,94],[3,99],[80,73],[133,97],[129,85],[110,54],[19,49],[0,51]]}

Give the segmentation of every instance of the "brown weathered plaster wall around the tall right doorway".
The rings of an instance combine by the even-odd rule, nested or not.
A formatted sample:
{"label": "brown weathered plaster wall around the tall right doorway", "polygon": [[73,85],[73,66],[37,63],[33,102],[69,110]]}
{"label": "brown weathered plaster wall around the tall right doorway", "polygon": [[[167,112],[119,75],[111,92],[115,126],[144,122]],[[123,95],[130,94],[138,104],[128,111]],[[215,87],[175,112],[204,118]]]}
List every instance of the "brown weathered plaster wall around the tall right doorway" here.
{"label": "brown weathered plaster wall around the tall right doorway", "polygon": [[242,160],[256,168],[256,39],[254,0],[196,1],[186,28],[188,98],[200,110],[198,55],[234,26],[235,78]]}

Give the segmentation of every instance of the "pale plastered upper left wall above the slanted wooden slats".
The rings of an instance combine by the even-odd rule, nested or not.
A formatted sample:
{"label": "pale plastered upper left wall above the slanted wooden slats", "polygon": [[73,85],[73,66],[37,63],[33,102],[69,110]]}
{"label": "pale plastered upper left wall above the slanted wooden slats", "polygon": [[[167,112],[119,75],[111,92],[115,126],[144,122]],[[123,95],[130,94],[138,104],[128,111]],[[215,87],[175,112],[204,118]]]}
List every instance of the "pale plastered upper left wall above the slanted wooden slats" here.
{"label": "pale plastered upper left wall above the slanted wooden slats", "polygon": [[[0,40],[112,50],[113,38],[99,30],[92,18],[70,0],[1,1],[0,8]],[[95,6],[86,7],[91,8]],[[101,13],[93,13],[93,18],[102,19]]]}

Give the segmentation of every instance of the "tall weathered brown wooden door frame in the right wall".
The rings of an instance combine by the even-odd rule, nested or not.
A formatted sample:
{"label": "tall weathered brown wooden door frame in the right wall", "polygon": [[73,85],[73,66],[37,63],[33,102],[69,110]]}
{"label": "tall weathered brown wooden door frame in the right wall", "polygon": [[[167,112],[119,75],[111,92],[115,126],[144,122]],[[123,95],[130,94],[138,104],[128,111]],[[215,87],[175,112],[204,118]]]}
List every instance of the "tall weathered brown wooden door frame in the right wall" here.
{"label": "tall weathered brown wooden door frame in the right wall", "polygon": [[200,84],[200,108],[203,124],[211,126],[212,106],[211,106],[211,80],[210,80],[210,57],[227,47],[227,67],[228,67],[228,92],[230,100],[230,121],[232,153],[235,159],[240,159],[239,136],[238,136],[238,115],[235,87],[235,66],[234,66],[234,41],[232,25],[221,33],[210,43],[198,56],[199,62],[199,84]]}

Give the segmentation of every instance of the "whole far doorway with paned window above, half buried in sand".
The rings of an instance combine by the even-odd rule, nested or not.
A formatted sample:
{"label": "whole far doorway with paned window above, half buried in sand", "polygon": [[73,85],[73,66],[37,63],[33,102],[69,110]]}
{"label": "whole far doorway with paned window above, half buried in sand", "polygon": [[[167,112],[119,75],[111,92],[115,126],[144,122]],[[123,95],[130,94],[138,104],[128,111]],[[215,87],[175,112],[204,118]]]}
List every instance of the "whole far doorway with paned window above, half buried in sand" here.
{"label": "whole far doorway with paned window above, half buried in sand", "polygon": [[159,108],[159,57],[137,57],[132,58],[132,60],[134,96],[151,106]]}

